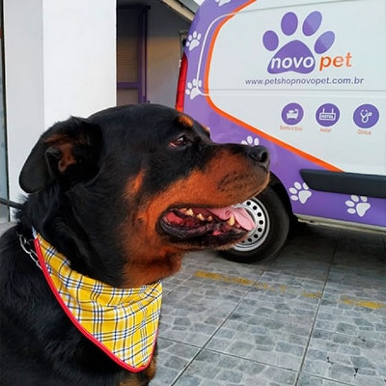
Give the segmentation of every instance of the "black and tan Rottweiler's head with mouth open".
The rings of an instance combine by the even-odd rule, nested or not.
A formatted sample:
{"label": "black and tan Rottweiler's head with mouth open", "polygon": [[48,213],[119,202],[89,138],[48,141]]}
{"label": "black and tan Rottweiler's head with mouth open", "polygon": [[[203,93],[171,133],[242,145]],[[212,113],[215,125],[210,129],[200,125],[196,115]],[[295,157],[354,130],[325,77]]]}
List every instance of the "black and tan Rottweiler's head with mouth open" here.
{"label": "black and tan Rottweiler's head with mouth open", "polygon": [[241,241],[253,223],[233,205],[263,190],[268,163],[261,146],[214,143],[190,116],[132,105],[54,125],[20,184],[33,225],[75,269],[137,286],[179,270],[184,252]]}

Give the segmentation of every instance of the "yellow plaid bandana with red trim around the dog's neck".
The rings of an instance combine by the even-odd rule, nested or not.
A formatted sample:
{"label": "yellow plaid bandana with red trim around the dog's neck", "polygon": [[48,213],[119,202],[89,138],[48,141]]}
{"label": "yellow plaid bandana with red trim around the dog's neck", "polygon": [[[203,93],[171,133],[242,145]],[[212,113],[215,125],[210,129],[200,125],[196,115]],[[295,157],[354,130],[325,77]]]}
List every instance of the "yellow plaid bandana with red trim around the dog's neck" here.
{"label": "yellow plaid bandana with red trim around the dog's neck", "polygon": [[79,274],[40,234],[34,243],[44,276],[80,332],[116,363],[140,372],[150,365],[161,312],[161,282],[114,288]]}

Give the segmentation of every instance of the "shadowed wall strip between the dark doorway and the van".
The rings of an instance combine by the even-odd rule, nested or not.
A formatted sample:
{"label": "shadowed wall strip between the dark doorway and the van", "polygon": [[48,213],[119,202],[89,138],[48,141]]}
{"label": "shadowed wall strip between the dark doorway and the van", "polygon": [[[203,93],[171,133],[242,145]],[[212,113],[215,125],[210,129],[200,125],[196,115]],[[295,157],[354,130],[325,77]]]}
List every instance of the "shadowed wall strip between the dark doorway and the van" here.
{"label": "shadowed wall strip between the dark doorway and the van", "polygon": [[148,13],[148,100],[174,108],[181,48],[179,31],[189,30],[182,19],[160,2]]}

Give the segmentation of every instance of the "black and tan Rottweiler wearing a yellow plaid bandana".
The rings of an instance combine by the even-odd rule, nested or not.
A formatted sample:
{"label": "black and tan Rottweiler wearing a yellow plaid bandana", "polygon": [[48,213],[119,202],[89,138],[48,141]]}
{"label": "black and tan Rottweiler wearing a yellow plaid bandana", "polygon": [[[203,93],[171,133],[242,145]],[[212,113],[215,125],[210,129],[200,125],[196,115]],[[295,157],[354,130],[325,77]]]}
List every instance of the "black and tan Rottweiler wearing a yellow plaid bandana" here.
{"label": "black and tan Rottweiler wearing a yellow plaid bandana", "polygon": [[[28,198],[0,240],[0,385],[149,385],[161,279],[179,271],[186,252],[242,241],[254,224],[234,205],[268,179],[263,146],[214,143],[209,128],[161,105],[109,108],[54,124],[23,165],[19,183]],[[59,287],[73,280],[76,287],[78,278],[84,286],[74,311],[68,283],[64,293]],[[124,336],[123,348],[111,352],[90,329],[104,317],[99,307],[110,307],[103,296],[128,293],[139,296],[138,306],[130,296],[125,301],[143,321],[154,318],[152,327],[131,334],[106,317],[103,332],[111,338],[121,328]],[[101,302],[92,298],[96,308],[76,319],[87,296]],[[87,312],[94,312],[91,327],[81,321]],[[130,312],[123,308],[116,319],[134,323]],[[146,334],[152,338],[144,344]],[[147,345],[143,358],[125,362],[116,354],[128,341]]]}

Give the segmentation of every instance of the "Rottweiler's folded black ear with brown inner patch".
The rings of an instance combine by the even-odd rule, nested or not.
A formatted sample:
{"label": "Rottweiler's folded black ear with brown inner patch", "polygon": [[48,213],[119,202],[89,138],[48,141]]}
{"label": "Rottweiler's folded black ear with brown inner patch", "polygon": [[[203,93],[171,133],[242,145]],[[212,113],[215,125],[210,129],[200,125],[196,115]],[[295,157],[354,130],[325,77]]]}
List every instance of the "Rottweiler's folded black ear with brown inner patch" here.
{"label": "Rottweiler's folded black ear with brown inner patch", "polygon": [[24,163],[19,184],[27,193],[39,192],[55,180],[85,181],[96,174],[102,148],[99,125],[71,117],[56,123],[39,139]]}

